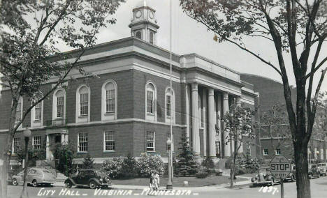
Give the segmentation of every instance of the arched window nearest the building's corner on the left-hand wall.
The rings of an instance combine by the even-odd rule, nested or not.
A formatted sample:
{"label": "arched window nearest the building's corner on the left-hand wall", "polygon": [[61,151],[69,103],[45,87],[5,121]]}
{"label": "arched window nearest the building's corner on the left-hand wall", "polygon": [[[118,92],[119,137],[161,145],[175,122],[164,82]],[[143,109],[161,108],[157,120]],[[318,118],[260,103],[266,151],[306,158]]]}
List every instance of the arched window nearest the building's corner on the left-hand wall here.
{"label": "arched window nearest the building's corner on the left-hand wall", "polygon": [[117,119],[117,84],[113,80],[108,80],[102,86],[102,119]]}

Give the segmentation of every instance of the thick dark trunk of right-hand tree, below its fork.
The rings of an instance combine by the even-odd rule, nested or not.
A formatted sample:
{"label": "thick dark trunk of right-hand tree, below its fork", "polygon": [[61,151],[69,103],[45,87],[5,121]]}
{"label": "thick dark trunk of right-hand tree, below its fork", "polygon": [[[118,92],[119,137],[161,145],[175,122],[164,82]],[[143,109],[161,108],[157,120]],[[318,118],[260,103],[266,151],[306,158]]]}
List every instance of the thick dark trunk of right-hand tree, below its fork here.
{"label": "thick dark trunk of right-hand tree, below its fork", "polygon": [[310,198],[310,180],[308,176],[307,144],[294,142],[296,160],[296,190],[298,198]]}

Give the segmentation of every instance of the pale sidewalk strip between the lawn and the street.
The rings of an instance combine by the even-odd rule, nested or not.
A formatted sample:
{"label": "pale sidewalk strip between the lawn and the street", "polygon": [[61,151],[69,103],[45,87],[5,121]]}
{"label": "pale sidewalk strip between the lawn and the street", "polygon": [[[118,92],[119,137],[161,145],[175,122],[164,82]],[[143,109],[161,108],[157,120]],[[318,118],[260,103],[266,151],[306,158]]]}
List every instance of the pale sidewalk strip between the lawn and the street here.
{"label": "pale sidewalk strip between the lawn and the street", "polygon": [[[248,177],[242,177],[238,176],[240,178],[248,178]],[[249,185],[251,184],[251,181],[248,179],[247,181],[237,181],[234,183],[235,188],[240,186],[241,188],[249,188]],[[228,188],[230,183],[223,183],[219,185],[209,185],[209,186],[201,186],[201,187],[174,187],[173,190],[192,190],[196,192],[201,191],[215,191],[222,188]],[[54,186],[56,187],[64,187],[65,184],[63,182],[56,182],[54,183]],[[114,189],[122,189],[122,190],[144,190],[145,188],[149,188],[148,185],[115,185],[112,184],[112,188]],[[159,188],[159,190],[166,190],[166,185],[163,185]]]}

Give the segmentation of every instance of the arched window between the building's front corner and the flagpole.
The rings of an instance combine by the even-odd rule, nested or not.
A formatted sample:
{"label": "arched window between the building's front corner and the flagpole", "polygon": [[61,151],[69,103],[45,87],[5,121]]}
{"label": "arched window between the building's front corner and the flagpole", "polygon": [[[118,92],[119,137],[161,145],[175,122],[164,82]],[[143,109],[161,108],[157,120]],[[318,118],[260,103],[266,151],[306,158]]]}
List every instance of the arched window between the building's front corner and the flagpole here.
{"label": "arched window between the building's front corner and the flagpole", "polygon": [[145,118],[152,121],[157,120],[157,89],[152,82],[145,85]]}

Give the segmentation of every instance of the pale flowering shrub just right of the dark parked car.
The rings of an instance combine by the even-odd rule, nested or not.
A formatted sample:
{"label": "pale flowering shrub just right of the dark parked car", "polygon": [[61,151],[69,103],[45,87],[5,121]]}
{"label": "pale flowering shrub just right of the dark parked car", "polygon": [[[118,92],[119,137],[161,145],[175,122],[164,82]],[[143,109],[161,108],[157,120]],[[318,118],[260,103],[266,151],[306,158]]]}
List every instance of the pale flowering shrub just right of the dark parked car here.
{"label": "pale flowering shrub just right of the dark parked car", "polygon": [[124,158],[113,158],[112,160],[106,160],[101,165],[101,169],[105,171],[111,178],[119,178],[119,174],[122,172],[124,165]]}

